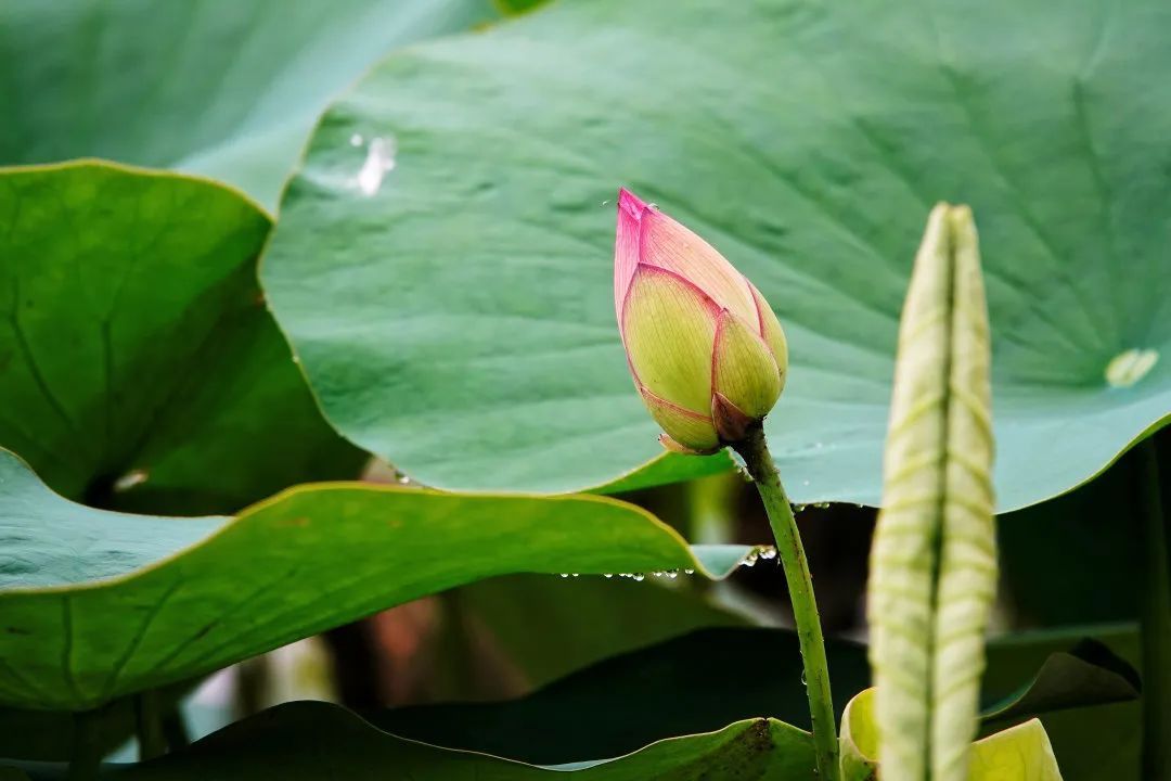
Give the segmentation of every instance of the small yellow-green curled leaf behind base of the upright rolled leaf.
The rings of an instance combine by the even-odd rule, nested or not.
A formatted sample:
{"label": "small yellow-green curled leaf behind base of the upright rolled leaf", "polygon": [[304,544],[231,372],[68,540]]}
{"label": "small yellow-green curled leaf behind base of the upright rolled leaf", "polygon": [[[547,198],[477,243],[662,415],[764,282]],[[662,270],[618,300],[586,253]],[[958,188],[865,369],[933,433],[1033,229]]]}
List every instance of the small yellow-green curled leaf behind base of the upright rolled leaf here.
{"label": "small yellow-green curled leaf behind base of the upright rolled leaf", "polygon": [[[876,759],[879,717],[875,713],[875,690],[868,688],[845,708],[843,781],[874,781],[888,773]],[[1062,781],[1049,737],[1038,719],[978,740],[968,754],[963,775],[968,781]]]}

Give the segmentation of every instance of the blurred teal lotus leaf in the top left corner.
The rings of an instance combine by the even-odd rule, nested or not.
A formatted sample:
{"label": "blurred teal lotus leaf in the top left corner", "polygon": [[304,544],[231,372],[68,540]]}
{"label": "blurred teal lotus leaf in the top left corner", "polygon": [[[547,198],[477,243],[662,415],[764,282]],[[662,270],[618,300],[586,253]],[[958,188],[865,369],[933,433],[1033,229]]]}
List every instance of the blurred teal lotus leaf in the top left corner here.
{"label": "blurred teal lotus leaf in the top left corner", "polygon": [[397,46],[494,15],[489,0],[7,0],[0,163],[179,169],[272,211],[331,96]]}

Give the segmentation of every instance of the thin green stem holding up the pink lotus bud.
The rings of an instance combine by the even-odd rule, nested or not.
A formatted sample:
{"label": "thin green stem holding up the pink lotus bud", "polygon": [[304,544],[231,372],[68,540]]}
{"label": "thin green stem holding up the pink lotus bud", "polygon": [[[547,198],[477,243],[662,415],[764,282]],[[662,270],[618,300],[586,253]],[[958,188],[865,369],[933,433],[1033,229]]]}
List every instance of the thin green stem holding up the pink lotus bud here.
{"label": "thin green stem holding up the pink lotus bud", "polygon": [[821,635],[817,600],[813,591],[809,563],[806,561],[801,535],[789,498],[785,495],[781,477],[765,441],[765,431],[754,426],[733,448],[744,459],[748,474],[765,502],[768,522],[776,539],[776,554],[785,569],[793,603],[793,618],[797,625],[801,658],[804,663],[806,693],[809,697],[809,717],[813,722],[813,742],[817,754],[817,776],[822,781],[838,781],[837,725],[834,721],[834,700],[829,693],[829,666],[826,664],[826,640]]}

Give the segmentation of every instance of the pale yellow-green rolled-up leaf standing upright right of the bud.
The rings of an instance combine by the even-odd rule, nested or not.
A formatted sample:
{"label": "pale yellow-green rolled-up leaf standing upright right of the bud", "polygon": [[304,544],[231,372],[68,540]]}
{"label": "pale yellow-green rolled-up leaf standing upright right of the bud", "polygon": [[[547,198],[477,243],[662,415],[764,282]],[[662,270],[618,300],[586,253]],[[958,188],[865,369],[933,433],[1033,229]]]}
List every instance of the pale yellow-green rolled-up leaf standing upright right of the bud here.
{"label": "pale yellow-green rolled-up leaf standing upright right of the bud", "polygon": [[972,214],[931,212],[899,326],[867,616],[877,756],[964,781],[995,596],[988,316]]}

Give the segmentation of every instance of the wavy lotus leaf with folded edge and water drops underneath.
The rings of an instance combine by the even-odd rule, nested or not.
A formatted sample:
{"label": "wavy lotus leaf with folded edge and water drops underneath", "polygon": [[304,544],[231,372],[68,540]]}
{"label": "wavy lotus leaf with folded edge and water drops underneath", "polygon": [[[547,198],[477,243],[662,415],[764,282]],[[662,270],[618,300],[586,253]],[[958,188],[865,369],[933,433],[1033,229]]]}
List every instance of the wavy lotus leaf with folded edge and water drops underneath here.
{"label": "wavy lotus leaf with folded edge and water drops underneath", "polygon": [[[97,511],[0,451],[0,703],[84,708],[511,573],[726,574],[605,498],[292,488],[234,520]],[[626,582],[629,588],[645,584]]]}

